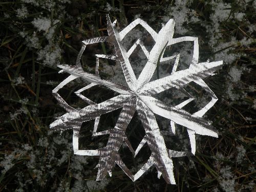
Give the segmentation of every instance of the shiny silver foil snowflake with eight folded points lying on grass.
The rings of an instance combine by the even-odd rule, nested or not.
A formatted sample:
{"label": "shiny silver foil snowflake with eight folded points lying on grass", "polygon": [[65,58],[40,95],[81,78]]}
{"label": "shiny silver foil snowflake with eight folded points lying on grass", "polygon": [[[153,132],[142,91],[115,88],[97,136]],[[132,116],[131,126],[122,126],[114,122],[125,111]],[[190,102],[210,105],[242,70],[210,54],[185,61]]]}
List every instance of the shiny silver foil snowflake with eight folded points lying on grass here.
{"label": "shiny silver foil snowflake with eight folded points lying on grass", "polygon": [[[118,164],[123,172],[133,181],[136,181],[143,173],[146,172],[148,168],[155,165],[158,170],[159,178],[162,175],[167,183],[175,184],[172,157],[181,157],[189,154],[195,154],[195,134],[218,137],[217,131],[214,127],[210,125],[211,122],[202,118],[202,116],[218,100],[214,92],[210,90],[210,88],[202,79],[207,76],[214,75],[213,72],[220,68],[220,66],[222,65],[222,61],[199,63],[198,38],[190,36],[173,38],[175,25],[173,19],[170,19],[166,23],[166,25],[163,25],[159,33],[155,32],[140,18],[134,20],[134,22],[132,22],[122,31],[118,32],[116,28],[116,20],[115,22],[111,23],[109,15],[106,15],[106,17],[108,22],[109,36],[96,37],[82,41],[83,46],[78,54],[76,66],[58,66],[62,69],[61,72],[67,72],[70,74],[70,76],[63,80],[53,90],[53,95],[56,97],[59,104],[63,106],[63,108],[65,108],[67,113],[51,123],[50,128],[52,130],[61,131],[73,129],[74,154],[99,156],[99,162],[97,165],[97,180],[102,180],[108,173],[111,176],[111,170],[115,166],[115,164]],[[122,44],[122,40],[125,35],[139,24],[152,35],[155,41],[155,45],[150,52],[147,51],[140,39],[138,39],[128,51],[124,49],[124,45]],[[194,41],[193,60],[191,61],[191,63],[187,63],[189,64],[188,69],[177,71],[180,55],[178,54],[170,57],[163,57],[163,54],[167,46],[171,46],[182,41]],[[80,65],[80,57],[83,51],[86,49],[87,45],[98,42],[109,42],[111,44],[114,44],[116,55],[96,54],[96,74],[84,72]],[[129,57],[138,45],[140,45],[143,52],[145,53],[147,57],[147,62],[137,79],[131,67]],[[99,58],[107,58],[119,61],[123,70],[125,80],[127,82],[127,86],[101,79],[99,77],[98,70]],[[172,58],[175,58],[172,73],[164,78],[150,81],[154,74],[154,71],[156,70],[157,63],[161,63]],[[89,104],[88,106],[80,110],[72,108],[57,93],[59,89],[61,89],[68,82],[76,78],[83,78],[90,82],[90,84],[88,84],[86,87],[75,92],[77,96],[79,96],[81,99]],[[204,108],[194,114],[190,114],[185,110],[182,110],[183,106],[185,106],[187,103],[194,99],[183,89],[183,87],[191,81],[197,83],[211,96],[211,100],[204,106]],[[82,91],[92,88],[96,85],[105,86],[119,93],[119,95],[104,102],[95,103],[81,94]],[[177,88],[181,90],[183,93],[187,94],[189,98],[176,106],[167,106],[162,101],[154,97],[154,95],[157,95],[160,92],[163,92],[170,88]],[[100,116],[102,114],[117,109],[121,109],[121,112],[115,127],[111,130],[97,132]],[[127,128],[127,125],[130,123],[135,111],[138,112],[140,121],[143,124],[145,136],[141,140],[137,149],[134,151],[131,143],[125,135],[125,130]],[[155,114],[170,120],[171,129],[169,130],[169,133],[172,132],[173,134],[175,134],[175,123],[186,127],[191,144],[191,152],[177,152],[173,150],[168,150],[166,148],[163,135],[169,133],[166,131],[160,131],[155,118]],[[98,150],[79,150],[78,134],[82,122],[93,119],[95,119],[93,136],[109,134],[108,143],[105,147],[99,148]],[[133,175],[126,167],[118,153],[118,150],[123,142],[127,144],[134,156],[138,154],[141,147],[145,143],[148,144],[152,152],[150,158],[135,175]]]}

